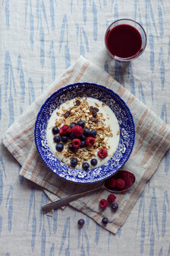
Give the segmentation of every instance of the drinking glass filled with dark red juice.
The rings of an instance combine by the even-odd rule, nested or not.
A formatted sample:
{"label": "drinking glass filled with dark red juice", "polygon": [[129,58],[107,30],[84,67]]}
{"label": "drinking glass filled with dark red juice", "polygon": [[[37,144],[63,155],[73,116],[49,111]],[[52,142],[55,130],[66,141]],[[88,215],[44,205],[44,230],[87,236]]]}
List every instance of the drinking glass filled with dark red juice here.
{"label": "drinking glass filled with dark red juice", "polygon": [[105,32],[105,47],[113,59],[130,61],[139,57],[146,47],[146,32],[131,19],[120,19]]}

